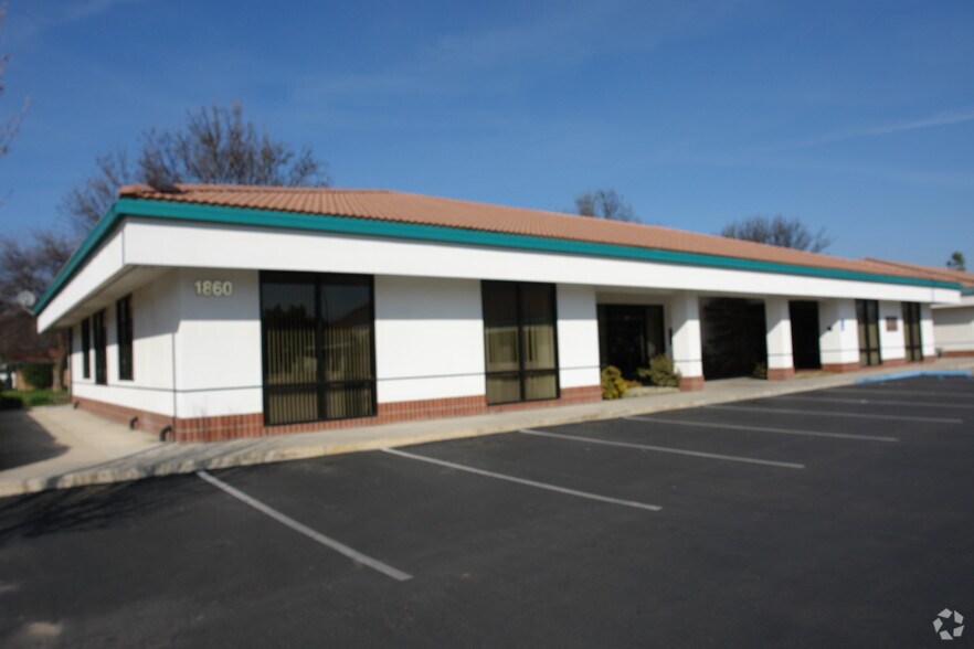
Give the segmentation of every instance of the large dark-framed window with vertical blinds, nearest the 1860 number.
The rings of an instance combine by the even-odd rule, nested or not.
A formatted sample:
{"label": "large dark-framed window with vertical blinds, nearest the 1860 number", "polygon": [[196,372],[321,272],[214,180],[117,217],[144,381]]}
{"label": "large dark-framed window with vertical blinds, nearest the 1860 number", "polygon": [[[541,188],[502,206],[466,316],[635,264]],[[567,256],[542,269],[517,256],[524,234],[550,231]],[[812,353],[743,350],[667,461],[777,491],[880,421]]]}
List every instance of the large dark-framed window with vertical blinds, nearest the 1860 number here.
{"label": "large dark-framed window with vertical blinds, nearest the 1860 number", "polygon": [[372,277],[261,274],[264,422],[375,414]]}

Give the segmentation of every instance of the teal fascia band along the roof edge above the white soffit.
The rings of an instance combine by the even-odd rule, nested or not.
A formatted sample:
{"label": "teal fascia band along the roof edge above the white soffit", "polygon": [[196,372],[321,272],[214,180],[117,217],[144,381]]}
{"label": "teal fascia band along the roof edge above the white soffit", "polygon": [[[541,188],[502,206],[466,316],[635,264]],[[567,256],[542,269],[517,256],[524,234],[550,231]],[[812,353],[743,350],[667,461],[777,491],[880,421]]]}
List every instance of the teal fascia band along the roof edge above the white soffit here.
{"label": "teal fascia band along the roof edge above the white soffit", "polygon": [[485,232],[481,230],[464,230],[440,225],[417,223],[399,223],[352,216],[331,216],[322,214],[305,214],[279,212],[275,210],[253,210],[247,208],[227,208],[224,205],[204,205],[200,203],[179,203],[173,201],[152,201],[146,199],[118,199],[105,216],[98,221],[81,247],[72,255],[64,268],[57,274],[51,286],[44,291],[34,307],[34,315],[40,315],[47,304],[61,290],[63,285],[74,275],[92,252],[110,234],[124,216],[149,216],[161,220],[189,221],[199,223],[221,223],[226,225],[247,225],[273,227],[276,230],[299,230],[310,232],[331,232],[373,237],[403,238],[413,241],[433,241],[463,245],[489,246],[498,248],[518,248],[541,251],[546,253],[568,253],[572,255],[590,255],[618,259],[637,259],[643,262],[660,262],[688,266],[708,266],[734,270],[756,270],[782,275],[802,275],[824,277],[828,279],[851,279],[858,281],[877,281],[922,286],[928,288],[946,288],[960,290],[961,285],[933,279],[899,277],[878,273],[841,270],[837,268],[819,268],[800,266],[777,262],[741,259],[700,253],[682,253],[659,248],[642,248],[616,244],[604,244],[562,238],[546,238],[523,234],[506,234]]}

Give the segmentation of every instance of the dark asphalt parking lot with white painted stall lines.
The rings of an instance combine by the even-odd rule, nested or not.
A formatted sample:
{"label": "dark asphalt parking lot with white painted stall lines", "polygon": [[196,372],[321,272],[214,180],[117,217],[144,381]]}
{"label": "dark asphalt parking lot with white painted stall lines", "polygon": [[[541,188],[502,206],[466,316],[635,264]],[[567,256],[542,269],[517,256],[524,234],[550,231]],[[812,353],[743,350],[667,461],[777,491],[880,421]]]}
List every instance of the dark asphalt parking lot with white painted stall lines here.
{"label": "dark asphalt parking lot with white painted stall lines", "polygon": [[49,491],[0,645],[936,646],[972,494],[962,377]]}

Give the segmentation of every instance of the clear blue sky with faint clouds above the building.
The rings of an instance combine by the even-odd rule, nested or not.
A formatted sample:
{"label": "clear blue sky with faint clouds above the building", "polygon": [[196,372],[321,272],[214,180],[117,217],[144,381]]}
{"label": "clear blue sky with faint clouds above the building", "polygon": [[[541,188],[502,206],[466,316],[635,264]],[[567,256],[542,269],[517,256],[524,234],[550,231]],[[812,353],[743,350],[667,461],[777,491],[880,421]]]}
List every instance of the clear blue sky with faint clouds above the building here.
{"label": "clear blue sky with faint clouds above the building", "polygon": [[243,102],[337,187],[649,223],[798,217],[829,252],[974,259],[974,3],[11,0],[0,228],[96,155]]}

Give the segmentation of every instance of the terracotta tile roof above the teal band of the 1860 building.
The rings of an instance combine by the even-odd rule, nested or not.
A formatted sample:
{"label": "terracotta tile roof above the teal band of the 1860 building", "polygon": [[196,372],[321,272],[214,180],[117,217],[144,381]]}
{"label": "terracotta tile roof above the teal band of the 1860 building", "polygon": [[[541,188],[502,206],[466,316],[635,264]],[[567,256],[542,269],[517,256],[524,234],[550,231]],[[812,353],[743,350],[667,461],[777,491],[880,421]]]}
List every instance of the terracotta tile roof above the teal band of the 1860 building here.
{"label": "terracotta tile roof above the teal band of the 1860 building", "polygon": [[658,225],[622,223],[541,210],[508,208],[387,190],[178,184],[126,185],[119,196],[203,205],[224,205],[458,227],[546,238],[594,242],[756,259],[800,266],[938,279],[928,270],[901,268],[864,259],[845,259],[697,234]]}

